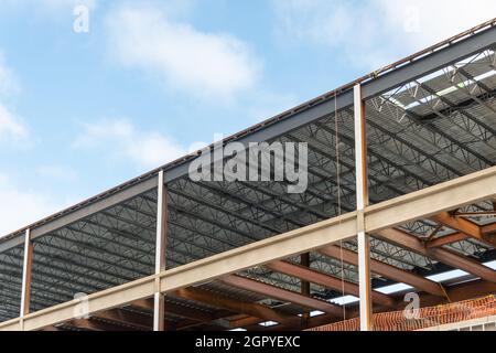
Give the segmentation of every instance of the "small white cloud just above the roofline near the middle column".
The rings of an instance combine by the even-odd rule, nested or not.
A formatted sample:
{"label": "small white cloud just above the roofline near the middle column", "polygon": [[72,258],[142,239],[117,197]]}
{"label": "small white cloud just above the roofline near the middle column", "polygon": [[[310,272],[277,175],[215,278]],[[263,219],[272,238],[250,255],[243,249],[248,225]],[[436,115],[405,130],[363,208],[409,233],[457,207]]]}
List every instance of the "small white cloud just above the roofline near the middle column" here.
{"label": "small white cloud just above the roofline near the middle column", "polygon": [[112,157],[127,159],[147,168],[173,161],[187,151],[161,133],[139,131],[126,119],[85,124],[83,130],[74,141],[74,148],[105,150]]}

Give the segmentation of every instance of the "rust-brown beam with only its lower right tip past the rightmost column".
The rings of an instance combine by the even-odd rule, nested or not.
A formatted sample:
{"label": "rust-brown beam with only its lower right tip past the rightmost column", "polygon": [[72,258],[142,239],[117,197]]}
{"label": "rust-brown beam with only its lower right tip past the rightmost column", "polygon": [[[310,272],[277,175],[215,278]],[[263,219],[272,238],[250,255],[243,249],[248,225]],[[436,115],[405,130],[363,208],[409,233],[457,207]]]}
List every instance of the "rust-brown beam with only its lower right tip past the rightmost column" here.
{"label": "rust-brown beam with only its lower right tip past the rightmost column", "polygon": [[[322,287],[330,288],[333,290],[341,291],[344,288],[346,295],[352,295],[355,297],[359,296],[359,288],[356,284],[346,280],[343,281],[339,278],[328,276],[326,274],[310,268],[293,265],[287,261],[274,261],[267,265],[267,267],[274,271],[293,276],[300,279],[305,279],[312,284],[320,285]],[[396,307],[396,300],[386,295],[382,295],[381,292],[373,290],[371,298],[373,301],[377,304],[389,308]]]}

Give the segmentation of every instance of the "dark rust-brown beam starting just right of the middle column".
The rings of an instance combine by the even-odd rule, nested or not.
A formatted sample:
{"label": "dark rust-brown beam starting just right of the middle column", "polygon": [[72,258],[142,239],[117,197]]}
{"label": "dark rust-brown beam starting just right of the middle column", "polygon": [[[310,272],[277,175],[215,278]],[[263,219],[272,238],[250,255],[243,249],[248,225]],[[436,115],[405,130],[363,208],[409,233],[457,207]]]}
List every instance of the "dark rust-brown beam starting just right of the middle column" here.
{"label": "dark rust-brown beam starting just right of the middle column", "polygon": [[226,309],[234,312],[246,313],[251,317],[260,318],[262,320],[276,321],[284,325],[289,327],[299,327],[300,318],[293,317],[290,314],[285,314],[278,310],[271,309],[269,307],[247,302],[238,299],[231,299],[225,296],[220,296],[217,293],[212,293],[209,291],[200,289],[200,288],[183,288],[175,291],[175,295],[198,302],[203,302],[209,306],[214,306],[216,308]]}

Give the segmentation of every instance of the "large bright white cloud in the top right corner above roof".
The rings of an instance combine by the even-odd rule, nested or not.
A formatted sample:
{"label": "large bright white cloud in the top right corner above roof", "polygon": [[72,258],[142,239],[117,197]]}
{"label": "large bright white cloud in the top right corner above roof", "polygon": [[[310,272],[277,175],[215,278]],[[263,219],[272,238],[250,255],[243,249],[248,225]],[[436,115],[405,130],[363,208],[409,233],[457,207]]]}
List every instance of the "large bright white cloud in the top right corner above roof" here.
{"label": "large bright white cloud in the top right corner above roof", "polygon": [[325,45],[353,65],[379,68],[490,20],[494,0],[273,0],[283,43]]}

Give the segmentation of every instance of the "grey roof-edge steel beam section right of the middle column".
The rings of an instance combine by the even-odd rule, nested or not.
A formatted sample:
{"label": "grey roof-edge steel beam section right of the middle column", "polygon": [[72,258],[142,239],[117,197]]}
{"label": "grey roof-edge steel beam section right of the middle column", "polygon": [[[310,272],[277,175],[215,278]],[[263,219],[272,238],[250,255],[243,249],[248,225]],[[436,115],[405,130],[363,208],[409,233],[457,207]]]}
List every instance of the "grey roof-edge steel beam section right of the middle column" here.
{"label": "grey roof-edge steel beam section right of the middle column", "polygon": [[[366,77],[362,77],[334,92],[326,93],[291,110],[284,111],[256,127],[228,137],[225,141],[236,140],[245,146],[248,146],[249,142],[268,141],[328,116],[330,111],[334,111],[336,107],[341,110],[342,108],[353,106],[354,97],[352,88],[357,83],[362,83],[363,99],[368,99],[450,66],[494,45],[496,26],[488,26],[488,24],[486,26],[486,30],[478,33],[466,32],[457,41],[450,39],[443,45],[435,45],[413,54],[405,61],[395,63],[387,69],[382,69],[379,76],[376,72]],[[185,158],[186,163],[179,163],[168,169],[165,181],[169,182],[187,175],[188,163],[192,159]]]}

